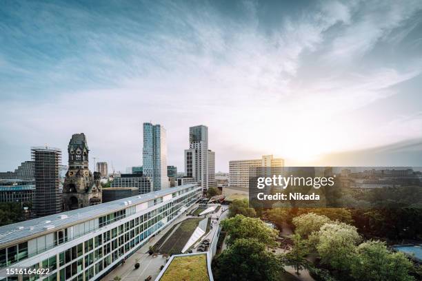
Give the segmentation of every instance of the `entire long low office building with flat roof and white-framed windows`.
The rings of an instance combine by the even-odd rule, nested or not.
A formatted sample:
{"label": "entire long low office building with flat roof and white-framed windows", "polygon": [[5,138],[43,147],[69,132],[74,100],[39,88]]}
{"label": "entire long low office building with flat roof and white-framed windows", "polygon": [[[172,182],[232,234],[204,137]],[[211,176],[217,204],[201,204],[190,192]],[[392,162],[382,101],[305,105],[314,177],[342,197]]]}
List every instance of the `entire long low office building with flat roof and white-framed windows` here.
{"label": "entire long low office building with flat roof and white-framed windows", "polygon": [[48,276],[19,280],[101,280],[201,195],[198,185],[183,185],[0,227],[0,276],[42,267]]}

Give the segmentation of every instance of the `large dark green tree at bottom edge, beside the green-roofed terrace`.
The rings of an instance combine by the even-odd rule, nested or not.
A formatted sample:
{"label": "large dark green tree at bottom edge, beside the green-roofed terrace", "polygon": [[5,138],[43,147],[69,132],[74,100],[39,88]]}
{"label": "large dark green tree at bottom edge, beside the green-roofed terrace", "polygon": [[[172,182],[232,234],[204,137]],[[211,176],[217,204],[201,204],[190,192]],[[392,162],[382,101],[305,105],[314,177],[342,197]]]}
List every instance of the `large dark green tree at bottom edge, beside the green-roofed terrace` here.
{"label": "large dark green tree at bottom edge, beside the green-roofed terrace", "polygon": [[215,280],[279,280],[281,260],[257,239],[237,239],[212,262]]}

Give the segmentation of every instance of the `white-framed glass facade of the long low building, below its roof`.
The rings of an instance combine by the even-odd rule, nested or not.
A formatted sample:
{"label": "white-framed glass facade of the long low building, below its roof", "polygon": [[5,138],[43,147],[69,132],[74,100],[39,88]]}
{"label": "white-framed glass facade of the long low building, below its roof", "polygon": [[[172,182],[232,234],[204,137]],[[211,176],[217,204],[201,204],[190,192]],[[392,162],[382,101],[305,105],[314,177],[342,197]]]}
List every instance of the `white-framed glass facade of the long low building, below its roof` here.
{"label": "white-framed glass facade of the long low building, below its roof", "polygon": [[[83,235],[78,237],[83,237],[83,242],[65,250],[61,247],[60,250],[52,251],[55,253],[48,258],[39,258],[38,262],[30,267],[48,268],[50,275],[23,275],[22,280],[98,280],[114,269],[123,257],[132,255],[154,233],[163,229],[200,198],[201,189],[191,186],[148,202],[104,214],[95,219],[97,222],[93,223],[93,227],[88,227],[88,232],[83,232]],[[79,222],[79,225],[83,223]],[[74,227],[79,225],[72,226],[72,232],[77,232]],[[98,227],[95,228],[95,225]],[[72,227],[54,232],[54,247],[61,244],[66,248],[66,244],[72,242],[68,237],[68,229]],[[42,256],[42,251],[38,255]],[[28,259],[28,242],[0,249],[0,268],[3,268],[3,271],[12,264],[19,266],[17,262],[26,259]],[[2,280],[18,280],[17,278],[8,276]]]}

